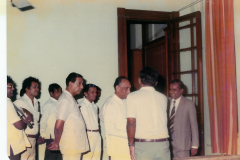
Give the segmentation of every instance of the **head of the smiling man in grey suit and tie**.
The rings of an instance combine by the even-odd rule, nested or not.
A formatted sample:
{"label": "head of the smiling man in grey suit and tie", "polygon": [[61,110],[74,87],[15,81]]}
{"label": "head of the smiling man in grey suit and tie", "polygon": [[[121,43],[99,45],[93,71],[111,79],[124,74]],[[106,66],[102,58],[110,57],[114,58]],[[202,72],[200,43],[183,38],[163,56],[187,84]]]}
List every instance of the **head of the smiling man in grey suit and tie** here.
{"label": "head of the smiling man in grey suit and tie", "polygon": [[181,97],[184,89],[184,84],[179,79],[174,79],[170,83],[169,93],[172,99],[178,99]]}

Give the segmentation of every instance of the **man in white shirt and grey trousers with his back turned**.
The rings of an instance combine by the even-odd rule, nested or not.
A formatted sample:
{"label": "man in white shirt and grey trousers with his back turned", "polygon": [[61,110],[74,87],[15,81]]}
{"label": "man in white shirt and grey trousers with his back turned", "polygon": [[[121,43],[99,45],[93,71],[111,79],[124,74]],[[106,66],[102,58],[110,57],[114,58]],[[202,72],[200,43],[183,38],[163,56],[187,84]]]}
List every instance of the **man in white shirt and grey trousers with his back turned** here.
{"label": "man in white shirt and grey trousers with his back turned", "polygon": [[127,134],[132,160],[170,160],[167,129],[167,97],[157,91],[158,73],[140,71],[140,89],[128,95]]}

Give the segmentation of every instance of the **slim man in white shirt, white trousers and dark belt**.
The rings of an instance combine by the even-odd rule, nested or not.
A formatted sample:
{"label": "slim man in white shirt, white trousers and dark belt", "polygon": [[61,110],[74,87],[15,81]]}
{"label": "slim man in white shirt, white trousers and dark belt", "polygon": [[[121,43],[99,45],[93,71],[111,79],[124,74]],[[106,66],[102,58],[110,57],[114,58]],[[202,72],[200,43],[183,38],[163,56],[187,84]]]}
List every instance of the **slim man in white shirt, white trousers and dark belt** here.
{"label": "slim man in white shirt, white trousers and dark belt", "polygon": [[96,85],[85,85],[83,93],[85,97],[79,103],[79,106],[87,127],[88,142],[90,145],[90,151],[83,154],[83,160],[100,160],[101,136],[98,125],[98,107],[94,103],[97,97]]}

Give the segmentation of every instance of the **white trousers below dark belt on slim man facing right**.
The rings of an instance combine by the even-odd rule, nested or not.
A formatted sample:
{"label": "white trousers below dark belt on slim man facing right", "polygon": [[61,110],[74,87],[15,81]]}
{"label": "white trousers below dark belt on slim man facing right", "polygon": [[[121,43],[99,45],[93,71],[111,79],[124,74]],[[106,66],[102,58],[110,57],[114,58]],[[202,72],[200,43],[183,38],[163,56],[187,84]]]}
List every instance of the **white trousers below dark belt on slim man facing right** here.
{"label": "white trousers below dark belt on slim man facing right", "polygon": [[99,132],[87,132],[90,151],[83,154],[82,160],[100,160],[101,136]]}

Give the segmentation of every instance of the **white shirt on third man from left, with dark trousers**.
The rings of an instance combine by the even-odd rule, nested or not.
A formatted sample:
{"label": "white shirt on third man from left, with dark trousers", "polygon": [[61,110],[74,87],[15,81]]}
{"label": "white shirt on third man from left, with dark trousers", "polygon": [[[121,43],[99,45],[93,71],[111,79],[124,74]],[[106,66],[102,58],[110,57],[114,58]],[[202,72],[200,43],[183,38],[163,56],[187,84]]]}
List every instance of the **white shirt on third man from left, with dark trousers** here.
{"label": "white shirt on third man from left, with dark trousers", "polygon": [[56,104],[57,100],[50,98],[42,109],[42,118],[40,122],[40,134],[45,139],[55,138],[54,127],[56,123]]}

